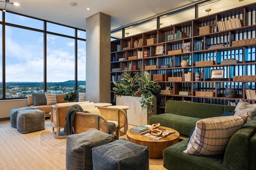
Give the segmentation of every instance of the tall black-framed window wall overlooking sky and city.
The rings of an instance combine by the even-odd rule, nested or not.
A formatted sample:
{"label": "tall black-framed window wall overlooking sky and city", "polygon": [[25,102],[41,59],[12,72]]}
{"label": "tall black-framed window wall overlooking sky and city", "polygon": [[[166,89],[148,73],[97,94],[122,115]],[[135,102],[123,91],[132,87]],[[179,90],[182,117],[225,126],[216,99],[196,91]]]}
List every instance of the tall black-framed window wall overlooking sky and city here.
{"label": "tall black-framed window wall overlooking sky and city", "polygon": [[0,17],[1,99],[86,91],[85,30],[12,12]]}

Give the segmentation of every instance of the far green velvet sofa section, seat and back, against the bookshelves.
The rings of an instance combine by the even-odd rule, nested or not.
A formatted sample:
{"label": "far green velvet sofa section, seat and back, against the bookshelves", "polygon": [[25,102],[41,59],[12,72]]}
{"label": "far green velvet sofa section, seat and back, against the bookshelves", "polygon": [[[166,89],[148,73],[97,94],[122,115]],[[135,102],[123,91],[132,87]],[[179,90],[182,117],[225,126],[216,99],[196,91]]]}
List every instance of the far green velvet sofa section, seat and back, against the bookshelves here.
{"label": "far green velvet sofa section, seat and back, against the bookshelves", "polygon": [[235,106],[203,104],[167,100],[165,113],[149,117],[149,124],[160,123],[180,133],[181,139],[188,138],[200,119],[217,117],[225,111],[234,111]]}

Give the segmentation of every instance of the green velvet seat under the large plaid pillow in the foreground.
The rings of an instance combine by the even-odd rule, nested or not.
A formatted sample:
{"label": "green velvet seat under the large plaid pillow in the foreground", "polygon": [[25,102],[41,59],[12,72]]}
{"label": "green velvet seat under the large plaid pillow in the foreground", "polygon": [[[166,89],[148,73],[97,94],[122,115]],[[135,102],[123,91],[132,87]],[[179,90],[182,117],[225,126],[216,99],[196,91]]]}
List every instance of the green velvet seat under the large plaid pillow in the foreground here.
{"label": "green velvet seat under the large plaid pillow in the foreground", "polygon": [[164,150],[164,168],[169,170],[227,170],[223,165],[223,154],[214,156],[190,155],[183,153],[188,139]]}

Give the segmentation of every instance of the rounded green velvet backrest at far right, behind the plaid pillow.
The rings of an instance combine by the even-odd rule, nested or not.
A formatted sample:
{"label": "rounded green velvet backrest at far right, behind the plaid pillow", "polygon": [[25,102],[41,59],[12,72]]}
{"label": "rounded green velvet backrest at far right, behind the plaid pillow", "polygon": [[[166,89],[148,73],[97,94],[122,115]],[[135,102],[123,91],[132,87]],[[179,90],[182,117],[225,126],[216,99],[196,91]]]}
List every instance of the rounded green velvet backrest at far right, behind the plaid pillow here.
{"label": "rounded green velvet backrest at far right, behind the plaid pillow", "polygon": [[250,139],[255,133],[256,117],[244,124],[244,126],[230,138],[224,156],[224,165],[227,168],[234,170],[249,169]]}

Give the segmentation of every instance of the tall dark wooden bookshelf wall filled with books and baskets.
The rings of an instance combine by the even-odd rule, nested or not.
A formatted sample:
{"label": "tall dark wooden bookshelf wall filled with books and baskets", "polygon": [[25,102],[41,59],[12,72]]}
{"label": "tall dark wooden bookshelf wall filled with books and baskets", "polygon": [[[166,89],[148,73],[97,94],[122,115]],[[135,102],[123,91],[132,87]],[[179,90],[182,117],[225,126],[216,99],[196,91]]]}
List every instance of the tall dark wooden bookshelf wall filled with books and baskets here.
{"label": "tall dark wooden bookshelf wall filled with books and baskets", "polygon": [[[135,41],[138,47],[134,47]],[[152,80],[154,74],[164,74],[158,83],[162,90],[166,86],[173,90],[173,94],[160,93],[158,104],[162,98],[225,105],[240,99],[255,103],[247,99],[246,90],[255,90],[256,78],[233,79],[255,75],[255,49],[256,3],[112,41],[111,101],[113,81],[119,81],[123,72],[146,70]],[[190,56],[188,66],[180,65],[182,55]],[[229,59],[233,63],[223,62]],[[185,81],[188,72],[191,78]],[[212,78],[215,73],[217,77]],[[173,77],[182,78],[172,81]],[[236,88],[236,98],[226,98],[226,88]],[[191,95],[179,94],[184,91]]]}

